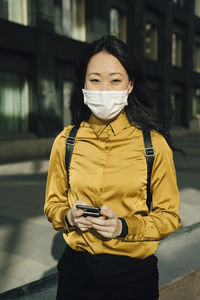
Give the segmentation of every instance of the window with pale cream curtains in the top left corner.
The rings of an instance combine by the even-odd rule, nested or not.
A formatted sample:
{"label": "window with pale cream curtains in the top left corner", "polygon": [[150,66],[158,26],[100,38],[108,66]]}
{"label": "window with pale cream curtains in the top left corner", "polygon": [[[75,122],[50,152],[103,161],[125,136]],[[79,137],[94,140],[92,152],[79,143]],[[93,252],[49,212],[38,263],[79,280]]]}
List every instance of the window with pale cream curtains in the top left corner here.
{"label": "window with pale cream curtains in the top left corner", "polygon": [[28,25],[27,0],[1,0],[0,18],[23,25]]}

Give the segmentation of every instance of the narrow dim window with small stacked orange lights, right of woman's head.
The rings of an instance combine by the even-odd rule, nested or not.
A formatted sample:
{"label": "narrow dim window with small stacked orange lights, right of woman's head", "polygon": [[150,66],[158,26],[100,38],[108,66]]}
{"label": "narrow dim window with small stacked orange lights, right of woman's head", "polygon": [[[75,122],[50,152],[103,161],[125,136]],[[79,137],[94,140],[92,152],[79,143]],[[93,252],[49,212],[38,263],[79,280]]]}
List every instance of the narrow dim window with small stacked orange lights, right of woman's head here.
{"label": "narrow dim window with small stacked orange lights, right of woman's head", "polygon": [[158,27],[149,22],[145,26],[145,57],[158,59]]}

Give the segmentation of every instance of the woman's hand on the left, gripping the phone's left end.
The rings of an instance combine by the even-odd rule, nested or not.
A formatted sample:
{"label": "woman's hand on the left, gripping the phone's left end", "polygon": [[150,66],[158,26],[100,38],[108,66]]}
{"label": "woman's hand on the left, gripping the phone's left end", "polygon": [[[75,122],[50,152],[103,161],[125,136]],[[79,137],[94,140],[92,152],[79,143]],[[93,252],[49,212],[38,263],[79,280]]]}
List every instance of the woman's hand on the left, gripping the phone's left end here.
{"label": "woman's hand on the left, gripping the phone's left end", "polygon": [[91,228],[91,222],[87,218],[83,217],[83,210],[76,208],[76,205],[88,205],[88,203],[78,200],[72,209],[67,214],[67,219],[72,226],[76,226],[82,232]]}

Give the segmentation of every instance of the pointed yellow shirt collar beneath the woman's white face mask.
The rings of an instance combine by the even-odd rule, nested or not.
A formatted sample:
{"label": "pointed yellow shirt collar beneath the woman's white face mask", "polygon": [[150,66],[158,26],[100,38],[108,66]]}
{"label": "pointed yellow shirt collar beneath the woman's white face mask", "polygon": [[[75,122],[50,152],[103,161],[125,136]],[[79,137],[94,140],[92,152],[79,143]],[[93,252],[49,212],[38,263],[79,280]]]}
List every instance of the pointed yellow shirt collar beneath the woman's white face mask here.
{"label": "pointed yellow shirt collar beneath the woman's white face mask", "polygon": [[131,126],[125,113],[123,113],[120,117],[118,117],[117,119],[115,119],[114,121],[112,121],[110,123],[105,123],[105,122],[99,120],[97,117],[95,117],[94,114],[91,114],[91,116],[89,118],[89,124],[97,136],[100,136],[101,133],[104,131],[104,129],[107,126],[111,127],[114,135],[117,135],[125,128],[128,128]]}

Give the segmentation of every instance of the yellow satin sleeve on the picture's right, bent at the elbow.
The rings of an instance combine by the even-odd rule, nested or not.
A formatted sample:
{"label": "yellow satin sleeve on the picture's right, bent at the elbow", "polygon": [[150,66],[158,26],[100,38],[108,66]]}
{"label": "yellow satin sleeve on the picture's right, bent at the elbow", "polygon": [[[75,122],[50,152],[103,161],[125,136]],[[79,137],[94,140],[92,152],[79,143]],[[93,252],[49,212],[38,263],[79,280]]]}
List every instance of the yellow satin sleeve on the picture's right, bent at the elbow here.
{"label": "yellow satin sleeve on the picture's right, bent at the elbow", "polygon": [[158,138],[158,134],[153,145],[156,151],[151,177],[153,210],[147,216],[137,212],[125,217],[127,241],[160,240],[180,226],[180,198],[172,151],[163,137]]}

